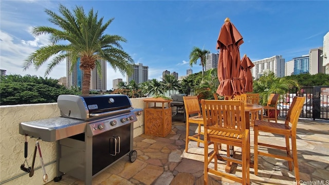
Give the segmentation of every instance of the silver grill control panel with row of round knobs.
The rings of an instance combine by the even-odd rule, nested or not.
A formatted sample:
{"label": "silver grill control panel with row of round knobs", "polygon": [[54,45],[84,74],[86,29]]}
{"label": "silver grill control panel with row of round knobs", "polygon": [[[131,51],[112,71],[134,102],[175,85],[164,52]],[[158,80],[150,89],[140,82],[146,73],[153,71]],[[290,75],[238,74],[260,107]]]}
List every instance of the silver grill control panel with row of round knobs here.
{"label": "silver grill control panel with row of round knobs", "polygon": [[116,127],[137,121],[135,113],[121,114],[92,121],[87,125],[87,136],[95,136]]}

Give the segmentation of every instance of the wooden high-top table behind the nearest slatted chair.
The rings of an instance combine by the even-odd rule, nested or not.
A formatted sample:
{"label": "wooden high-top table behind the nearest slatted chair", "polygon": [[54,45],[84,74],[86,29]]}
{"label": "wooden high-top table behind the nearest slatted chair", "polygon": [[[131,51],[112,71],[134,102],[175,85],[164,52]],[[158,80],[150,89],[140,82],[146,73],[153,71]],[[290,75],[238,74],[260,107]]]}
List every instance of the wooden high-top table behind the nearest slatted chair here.
{"label": "wooden high-top table behind the nearest slatted chair", "polygon": [[[245,104],[245,119],[246,119],[246,129],[249,129],[249,143],[250,143],[250,113],[251,112],[255,112],[255,111],[259,111],[259,110],[263,110],[264,106],[262,105],[256,105],[256,104]],[[229,151],[227,151],[229,152]],[[234,154],[234,152],[233,152]],[[232,163],[231,162],[227,162],[226,163],[226,167],[225,167],[225,172],[226,173],[231,173],[232,171]],[[253,162],[251,162],[250,160],[250,168],[253,168]]]}

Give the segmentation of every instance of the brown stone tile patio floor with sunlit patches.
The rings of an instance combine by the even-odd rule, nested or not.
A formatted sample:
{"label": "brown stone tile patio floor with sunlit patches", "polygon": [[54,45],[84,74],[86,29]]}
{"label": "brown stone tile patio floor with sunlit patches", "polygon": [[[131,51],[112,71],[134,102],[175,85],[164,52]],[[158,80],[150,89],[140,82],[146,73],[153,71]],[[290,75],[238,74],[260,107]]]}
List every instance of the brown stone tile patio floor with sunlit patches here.
{"label": "brown stone tile patio floor with sunlit patches", "polygon": [[[283,119],[279,120],[283,123]],[[189,185],[204,184],[204,148],[197,147],[190,141],[189,153],[185,153],[186,124],[182,119],[173,118],[172,132],[165,138],[140,135],[134,138],[134,150],[138,157],[131,163],[129,157],[117,161],[112,167],[93,178],[96,185]],[[193,125],[193,124],[192,124]],[[190,134],[196,131],[192,126]],[[262,135],[262,134],[261,134]],[[251,129],[251,159],[253,159],[253,131]],[[283,143],[284,138],[272,134],[263,134],[260,139],[268,143]],[[318,181],[329,182],[329,121],[300,119],[297,126],[298,164],[301,180],[307,184]],[[224,146],[223,149],[226,149]],[[264,149],[268,151],[267,149]],[[272,151],[268,151],[272,152]],[[239,154],[239,149],[236,150]],[[210,164],[212,165],[212,164]],[[225,163],[220,161],[218,168],[224,170]],[[290,172],[287,162],[281,159],[263,157],[259,159],[259,175],[250,169],[251,184],[296,184],[295,173]],[[241,167],[237,165],[233,173],[241,177]],[[326,181],[328,180],[328,181]],[[53,184],[84,184],[68,175],[63,175],[59,182]],[[209,175],[208,184],[240,184],[226,178]]]}

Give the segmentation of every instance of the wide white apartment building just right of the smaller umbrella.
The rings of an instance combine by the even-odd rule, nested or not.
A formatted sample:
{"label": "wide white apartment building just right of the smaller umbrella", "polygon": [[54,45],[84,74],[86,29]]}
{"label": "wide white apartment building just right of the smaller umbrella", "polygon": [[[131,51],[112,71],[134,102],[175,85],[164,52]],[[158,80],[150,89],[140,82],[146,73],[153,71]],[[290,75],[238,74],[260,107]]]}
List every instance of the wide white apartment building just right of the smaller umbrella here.
{"label": "wide white apartment building just right of the smaller umbrella", "polygon": [[284,59],[282,55],[275,55],[271,58],[254,61],[251,68],[252,77],[259,79],[265,71],[272,71],[277,77],[284,77]]}

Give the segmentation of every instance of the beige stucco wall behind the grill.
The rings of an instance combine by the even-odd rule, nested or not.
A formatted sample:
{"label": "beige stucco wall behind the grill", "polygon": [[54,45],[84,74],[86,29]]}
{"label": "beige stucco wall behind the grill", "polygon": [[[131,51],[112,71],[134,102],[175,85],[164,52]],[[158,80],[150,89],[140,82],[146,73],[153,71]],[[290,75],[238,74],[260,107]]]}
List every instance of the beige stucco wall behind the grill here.
{"label": "beige stucco wall behind the grill", "polygon": [[[144,98],[131,99],[133,107],[144,108]],[[57,103],[4,105],[0,106],[0,183],[3,184],[44,184],[42,169],[34,170],[29,177],[20,169],[24,163],[25,137],[19,134],[21,122],[59,117]],[[134,137],[144,133],[144,116],[139,116],[134,122]],[[27,161],[31,166],[36,139],[27,137]],[[46,165],[48,182],[56,176],[56,142],[40,142],[43,161]],[[50,164],[49,164],[50,163]],[[34,169],[39,168],[39,155],[36,154]],[[5,183],[4,183],[5,182]]]}

